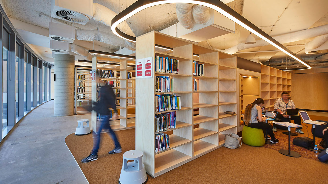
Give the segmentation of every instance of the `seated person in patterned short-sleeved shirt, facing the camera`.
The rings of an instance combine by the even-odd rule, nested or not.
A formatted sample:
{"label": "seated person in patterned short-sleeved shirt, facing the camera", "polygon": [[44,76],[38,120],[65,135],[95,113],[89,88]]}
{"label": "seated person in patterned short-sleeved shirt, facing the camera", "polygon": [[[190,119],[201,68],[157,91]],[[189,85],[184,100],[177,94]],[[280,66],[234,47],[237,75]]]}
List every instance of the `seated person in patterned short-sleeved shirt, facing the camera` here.
{"label": "seated person in patterned short-sleeved shirt, facing the camera", "polygon": [[[281,93],[281,98],[278,98],[275,101],[275,111],[278,112],[277,118],[281,119],[281,121],[288,121],[294,120],[295,124],[301,125],[301,118],[299,116],[291,116],[289,119],[289,116],[286,115],[286,109],[295,109],[295,103],[294,101],[289,99],[289,94],[287,92]],[[301,130],[302,127],[296,128],[296,132],[300,134],[304,134],[304,132]],[[277,128],[274,126],[273,131],[277,132]]]}

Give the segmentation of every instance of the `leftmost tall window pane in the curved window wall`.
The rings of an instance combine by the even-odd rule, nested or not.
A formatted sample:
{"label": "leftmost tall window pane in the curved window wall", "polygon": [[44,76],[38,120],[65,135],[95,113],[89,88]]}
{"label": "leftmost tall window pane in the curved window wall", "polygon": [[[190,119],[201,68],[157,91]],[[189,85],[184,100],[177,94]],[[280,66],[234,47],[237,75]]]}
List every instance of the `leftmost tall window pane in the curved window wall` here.
{"label": "leftmost tall window pane in the curved window wall", "polygon": [[3,28],[2,47],[2,130],[8,126],[8,55],[9,33]]}

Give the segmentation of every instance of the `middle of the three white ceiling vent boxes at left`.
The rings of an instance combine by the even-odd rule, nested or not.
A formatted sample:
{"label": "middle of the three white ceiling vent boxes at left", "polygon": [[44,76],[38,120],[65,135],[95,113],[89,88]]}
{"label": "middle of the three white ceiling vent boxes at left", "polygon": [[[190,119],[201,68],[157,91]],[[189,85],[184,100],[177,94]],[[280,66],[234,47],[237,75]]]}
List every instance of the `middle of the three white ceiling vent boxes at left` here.
{"label": "middle of the three white ceiling vent boxes at left", "polygon": [[49,37],[52,40],[73,43],[75,40],[75,28],[73,26],[49,22]]}

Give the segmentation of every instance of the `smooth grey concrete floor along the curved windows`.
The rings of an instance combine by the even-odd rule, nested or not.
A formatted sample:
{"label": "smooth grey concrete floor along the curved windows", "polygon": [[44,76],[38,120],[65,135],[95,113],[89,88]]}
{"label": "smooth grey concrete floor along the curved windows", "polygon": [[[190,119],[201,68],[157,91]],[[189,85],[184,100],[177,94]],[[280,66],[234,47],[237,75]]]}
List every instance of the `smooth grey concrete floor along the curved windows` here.
{"label": "smooth grey concrete floor along the curved windows", "polygon": [[0,145],[1,184],[89,183],[65,144],[77,120],[91,115],[53,116],[54,101],[33,109]]}

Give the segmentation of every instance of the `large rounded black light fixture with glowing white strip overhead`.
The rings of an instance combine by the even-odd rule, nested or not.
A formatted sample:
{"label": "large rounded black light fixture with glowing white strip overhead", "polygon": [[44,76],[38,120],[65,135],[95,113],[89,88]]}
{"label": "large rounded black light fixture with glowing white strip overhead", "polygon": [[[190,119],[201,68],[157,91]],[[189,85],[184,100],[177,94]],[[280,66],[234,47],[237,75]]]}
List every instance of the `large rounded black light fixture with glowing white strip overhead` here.
{"label": "large rounded black light fixture with glowing white strip overhead", "polygon": [[254,24],[252,24],[250,21],[248,21],[246,18],[244,18],[242,15],[228,7],[226,4],[222,3],[219,0],[138,0],[134,2],[132,5],[130,5],[128,8],[124,9],[120,13],[118,13],[113,19],[112,19],[112,25],[111,29],[113,33],[125,40],[135,42],[135,37],[130,36],[128,34],[123,33],[120,31],[117,26],[127,20],[128,18],[132,17],[134,14],[138,13],[139,11],[143,9],[147,9],[152,6],[156,5],[162,5],[162,4],[170,4],[170,3],[188,3],[188,4],[196,4],[196,5],[202,5],[211,9],[214,9],[215,11],[221,13],[222,15],[226,16],[230,20],[234,21],[241,27],[247,29],[248,31],[252,32],[256,36],[260,37],[264,41],[268,42],[272,46],[275,46],[277,49],[281,50],[285,54],[289,55],[290,57],[294,58],[298,62],[304,64],[306,67],[312,68],[308,63],[306,63],[303,59],[298,57],[295,53],[288,50],[285,46],[277,42],[277,40],[273,39],[271,36],[269,36],[267,33],[262,31],[260,28],[257,28]]}

